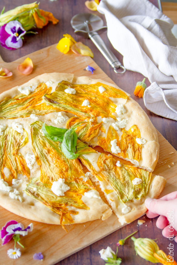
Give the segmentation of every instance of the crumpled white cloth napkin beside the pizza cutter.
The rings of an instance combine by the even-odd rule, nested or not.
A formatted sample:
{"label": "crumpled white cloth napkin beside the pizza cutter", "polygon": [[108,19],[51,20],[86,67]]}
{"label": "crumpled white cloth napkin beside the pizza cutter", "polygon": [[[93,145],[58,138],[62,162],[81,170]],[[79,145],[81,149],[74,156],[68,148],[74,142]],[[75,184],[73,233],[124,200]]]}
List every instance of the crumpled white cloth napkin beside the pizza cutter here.
{"label": "crumpled white cloth napkin beside the pizza cutter", "polygon": [[[144,93],[146,108],[177,120],[177,39],[171,19],[148,0],[102,0],[97,10],[105,15],[107,36],[123,55],[124,67],[153,83]],[[164,103],[158,109],[157,100]]]}

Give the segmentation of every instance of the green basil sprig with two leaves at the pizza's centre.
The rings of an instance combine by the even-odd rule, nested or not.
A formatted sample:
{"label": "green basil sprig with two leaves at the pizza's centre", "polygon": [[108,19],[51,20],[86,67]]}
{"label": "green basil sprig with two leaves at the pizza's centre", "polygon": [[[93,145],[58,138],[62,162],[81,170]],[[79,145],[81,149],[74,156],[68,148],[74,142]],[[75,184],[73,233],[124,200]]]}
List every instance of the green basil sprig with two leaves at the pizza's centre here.
{"label": "green basil sprig with two leaves at the pizza's centre", "polygon": [[42,125],[44,136],[54,142],[62,142],[61,151],[68,159],[76,159],[79,154],[76,154],[77,134],[73,128],[64,129],[54,126]]}

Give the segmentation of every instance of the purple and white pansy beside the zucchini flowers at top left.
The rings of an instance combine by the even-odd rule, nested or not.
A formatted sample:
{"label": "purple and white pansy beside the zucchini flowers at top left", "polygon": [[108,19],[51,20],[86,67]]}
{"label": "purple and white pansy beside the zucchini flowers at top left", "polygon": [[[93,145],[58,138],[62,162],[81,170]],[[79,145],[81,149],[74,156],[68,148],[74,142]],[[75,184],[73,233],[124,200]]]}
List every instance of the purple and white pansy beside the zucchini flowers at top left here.
{"label": "purple and white pansy beside the zucchini flowers at top left", "polygon": [[10,21],[0,28],[0,43],[2,47],[15,50],[23,45],[21,37],[26,33],[17,20]]}

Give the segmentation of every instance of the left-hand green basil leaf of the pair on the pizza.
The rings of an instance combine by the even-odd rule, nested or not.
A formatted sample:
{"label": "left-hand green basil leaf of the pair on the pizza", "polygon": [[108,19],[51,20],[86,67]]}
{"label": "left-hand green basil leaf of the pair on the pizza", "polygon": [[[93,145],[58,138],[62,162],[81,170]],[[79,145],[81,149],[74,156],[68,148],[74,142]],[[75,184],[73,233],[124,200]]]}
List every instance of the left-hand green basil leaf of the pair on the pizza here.
{"label": "left-hand green basil leaf of the pair on the pizza", "polygon": [[68,131],[68,129],[47,126],[45,125],[45,123],[43,123],[42,131],[44,133],[44,136],[46,136],[48,139],[53,140],[54,142],[62,142],[63,136]]}

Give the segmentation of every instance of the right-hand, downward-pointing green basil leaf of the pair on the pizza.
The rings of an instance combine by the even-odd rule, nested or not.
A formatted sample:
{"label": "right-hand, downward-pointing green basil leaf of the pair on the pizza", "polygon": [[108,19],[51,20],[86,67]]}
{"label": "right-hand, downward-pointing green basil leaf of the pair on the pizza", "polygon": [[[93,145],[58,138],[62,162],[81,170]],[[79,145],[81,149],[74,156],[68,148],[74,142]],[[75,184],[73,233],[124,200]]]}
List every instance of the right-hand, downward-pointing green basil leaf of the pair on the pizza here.
{"label": "right-hand, downward-pointing green basil leaf of the pair on the pizza", "polygon": [[63,137],[61,150],[69,159],[76,159],[79,155],[75,154],[77,144],[77,134],[73,128],[69,129]]}

